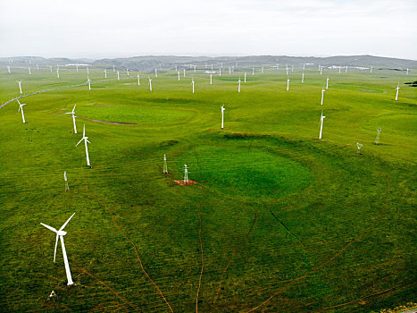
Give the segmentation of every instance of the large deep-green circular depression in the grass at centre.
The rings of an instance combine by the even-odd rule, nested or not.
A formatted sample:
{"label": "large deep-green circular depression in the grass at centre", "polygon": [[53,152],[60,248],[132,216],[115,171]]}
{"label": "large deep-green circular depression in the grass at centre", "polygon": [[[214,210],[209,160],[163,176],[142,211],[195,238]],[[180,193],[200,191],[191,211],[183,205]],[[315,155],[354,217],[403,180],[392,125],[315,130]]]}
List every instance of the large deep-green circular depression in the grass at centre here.
{"label": "large deep-green circular depression in the grass at centre", "polygon": [[308,167],[258,148],[198,147],[179,157],[181,171],[185,164],[189,179],[239,196],[278,198],[313,180]]}

